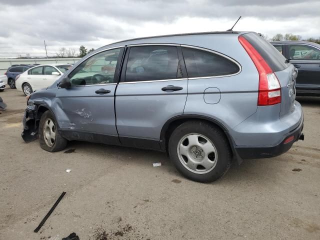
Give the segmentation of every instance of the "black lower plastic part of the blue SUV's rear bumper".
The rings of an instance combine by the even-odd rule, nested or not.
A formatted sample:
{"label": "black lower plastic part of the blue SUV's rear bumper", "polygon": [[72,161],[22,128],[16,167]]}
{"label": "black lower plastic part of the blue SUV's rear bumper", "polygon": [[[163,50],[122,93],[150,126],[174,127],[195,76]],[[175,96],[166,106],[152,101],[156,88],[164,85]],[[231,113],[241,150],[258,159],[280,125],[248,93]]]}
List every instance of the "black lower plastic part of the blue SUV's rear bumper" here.
{"label": "black lower plastic part of the blue SUV's rear bumper", "polygon": [[[282,153],[288,151],[292,144],[300,139],[303,129],[303,118],[301,119],[298,127],[291,130],[283,136],[283,141],[280,144],[267,147],[235,147],[236,152],[242,159],[251,158],[265,158],[281,155]],[[284,143],[288,137],[293,136],[293,139],[287,143]],[[302,135],[303,136],[303,135]],[[301,136],[301,138],[302,138]]]}

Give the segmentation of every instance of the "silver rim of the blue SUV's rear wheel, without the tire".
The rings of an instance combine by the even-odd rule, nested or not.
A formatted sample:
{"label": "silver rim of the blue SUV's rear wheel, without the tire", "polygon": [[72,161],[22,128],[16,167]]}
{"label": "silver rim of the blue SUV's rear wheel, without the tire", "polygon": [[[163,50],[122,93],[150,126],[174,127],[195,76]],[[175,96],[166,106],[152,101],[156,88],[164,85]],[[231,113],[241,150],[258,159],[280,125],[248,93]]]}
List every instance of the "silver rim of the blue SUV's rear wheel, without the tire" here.
{"label": "silver rim of the blue SUV's rear wheel, without the tire", "polygon": [[211,171],[217,162],[213,143],[204,135],[190,133],[181,137],[177,153],[182,165],[189,171],[204,174]]}

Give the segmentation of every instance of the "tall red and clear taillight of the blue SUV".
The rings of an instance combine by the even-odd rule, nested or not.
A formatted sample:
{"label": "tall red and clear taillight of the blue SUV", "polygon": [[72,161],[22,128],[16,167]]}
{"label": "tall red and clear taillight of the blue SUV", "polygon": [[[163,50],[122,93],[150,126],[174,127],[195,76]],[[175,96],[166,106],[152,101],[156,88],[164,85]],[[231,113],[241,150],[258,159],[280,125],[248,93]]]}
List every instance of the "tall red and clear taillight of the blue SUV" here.
{"label": "tall red and clear taillight of the blue SUV", "polygon": [[259,73],[258,105],[266,106],[281,102],[281,85],[278,78],[259,52],[243,36],[239,42],[246,50]]}

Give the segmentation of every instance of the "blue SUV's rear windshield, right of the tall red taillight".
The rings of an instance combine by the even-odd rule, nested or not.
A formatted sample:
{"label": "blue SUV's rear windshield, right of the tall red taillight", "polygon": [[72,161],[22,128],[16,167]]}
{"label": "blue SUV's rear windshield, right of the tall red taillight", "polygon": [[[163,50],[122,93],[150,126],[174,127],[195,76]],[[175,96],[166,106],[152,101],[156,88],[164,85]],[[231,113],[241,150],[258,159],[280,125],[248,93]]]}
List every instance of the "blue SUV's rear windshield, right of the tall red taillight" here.
{"label": "blue SUV's rear windshield, right of the tall red taillight", "polygon": [[263,57],[273,71],[281,71],[289,66],[290,63],[285,63],[286,58],[256,33],[245,33],[242,35]]}

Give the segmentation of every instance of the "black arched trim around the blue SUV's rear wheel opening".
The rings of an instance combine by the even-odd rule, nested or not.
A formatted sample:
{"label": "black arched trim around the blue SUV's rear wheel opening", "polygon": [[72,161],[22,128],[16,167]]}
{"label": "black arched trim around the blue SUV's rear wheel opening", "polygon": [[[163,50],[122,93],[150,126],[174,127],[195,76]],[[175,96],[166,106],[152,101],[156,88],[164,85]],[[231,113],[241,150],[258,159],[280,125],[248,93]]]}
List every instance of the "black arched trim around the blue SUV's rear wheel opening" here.
{"label": "black arched trim around the blue SUV's rear wheel opening", "polygon": [[168,142],[169,142],[169,138],[173,132],[173,130],[181,125],[182,123],[186,122],[186,121],[202,121],[202,122],[207,122],[211,125],[214,125],[215,127],[219,128],[221,130],[221,132],[224,134],[224,136],[226,137],[227,139],[227,142],[229,144],[229,147],[231,149],[231,152],[232,152],[232,155],[234,153],[234,149],[231,145],[231,142],[230,142],[230,136],[225,132],[226,130],[223,129],[223,127],[221,127],[219,124],[213,122],[213,121],[210,121],[209,119],[203,119],[203,118],[197,118],[197,117],[190,117],[190,118],[180,118],[180,119],[176,119],[176,120],[173,120],[169,123],[169,125],[166,127],[165,129],[165,132],[164,134],[162,134],[162,137],[161,137],[161,140],[164,141],[163,142],[163,146],[165,147],[165,151],[168,153]]}

